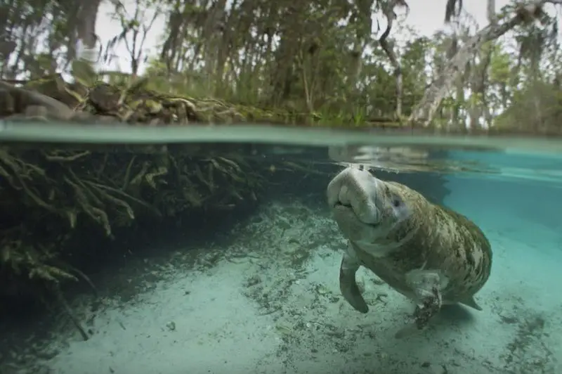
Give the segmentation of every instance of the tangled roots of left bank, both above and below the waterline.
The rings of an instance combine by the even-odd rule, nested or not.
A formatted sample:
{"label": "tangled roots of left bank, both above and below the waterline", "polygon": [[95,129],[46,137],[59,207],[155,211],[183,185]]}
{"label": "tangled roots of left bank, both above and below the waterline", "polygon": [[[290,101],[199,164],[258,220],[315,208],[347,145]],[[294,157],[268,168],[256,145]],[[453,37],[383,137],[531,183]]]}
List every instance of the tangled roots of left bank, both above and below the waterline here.
{"label": "tangled roots of left bank, both above and below the waterline", "polygon": [[[142,82],[74,87],[60,77],[54,79],[55,84],[30,82],[24,89],[0,84],[2,94],[17,94],[21,99],[4,111],[8,113],[4,119],[20,116],[25,120],[30,109],[37,111],[43,105],[44,120],[59,122],[58,109],[72,121],[95,117],[137,125],[243,120],[233,105],[156,93],[143,88]],[[94,292],[96,287],[85,273],[60,260],[63,255],[72,258],[69,251],[79,250],[67,245],[73,243],[69,239],[84,231],[97,232],[94,229],[99,229],[100,236],[113,238],[119,229],[133,230],[139,221],[176,217],[181,221],[192,212],[222,213],[254,204],[267,187],[263,175],[270,173],[271,165],[253,162],[237,154],[237,148],[221,147],[218,155],[201,155],[197,146],[174,148],[173,152],[167,146],[106,146],[103,150],[0,147],[0,293],[7,289],[1,284],[4,278],[44,284],[41,290],[51,292],[48,296],[58,300],[87,340],[63,297],[62,285],[66,280],[84,280]],[[96,250],[91,243],[81,246]]]}

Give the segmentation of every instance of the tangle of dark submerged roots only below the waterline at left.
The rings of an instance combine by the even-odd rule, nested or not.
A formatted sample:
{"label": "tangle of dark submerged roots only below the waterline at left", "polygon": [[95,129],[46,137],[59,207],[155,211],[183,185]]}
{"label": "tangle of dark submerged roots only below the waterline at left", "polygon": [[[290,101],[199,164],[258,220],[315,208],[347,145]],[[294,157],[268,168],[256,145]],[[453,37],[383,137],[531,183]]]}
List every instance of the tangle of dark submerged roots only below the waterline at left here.
{"label": "tangle of dark submerged roots only below the waterline at left", "polygon": [[[22,222],[16,228],[0,226],[0,271],[48,284],[77,280],[76,273],[95,290],[86,274],[57,260],[74,229],[91,221],[112,237],[114,228],[131,226],[139,217],[159,219],[201,207],[230,209],[256,200],[263,180],[236,159],[0,148],[0,189],[13,196],[0,201],[8,214],[2,221]],[[34,227],[45,225],[52,227],[46,231],[50,239],[34,236]],[[53,290],[60,292],[58,286]]]}

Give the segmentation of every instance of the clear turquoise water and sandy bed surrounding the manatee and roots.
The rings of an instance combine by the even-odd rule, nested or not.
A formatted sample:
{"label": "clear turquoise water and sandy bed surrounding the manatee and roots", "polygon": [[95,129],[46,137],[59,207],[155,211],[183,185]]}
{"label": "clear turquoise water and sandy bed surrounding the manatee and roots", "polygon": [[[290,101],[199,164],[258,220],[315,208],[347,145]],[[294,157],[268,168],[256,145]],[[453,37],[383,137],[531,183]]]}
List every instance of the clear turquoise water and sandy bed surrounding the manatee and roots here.
{"label": "clear turquoise water and sandy bed surrounding the manatee and roots", "polygon": [[[8,306],[1,373],[562,372],[558,141],[44,125],[4,125],[0,141],[8,147],[2,152],[30,160],[62,148],[99,153],[82,168],[99,168],[106,155],[151,160],[155,150],[164,158],[190,150],[193,165],[247,162],[266,183],[240,209],[226,202],[223,211],[119,231],[112,241],[84,238],[100,240],[88,243],[99,251],[86,256],[88,266],[80,262],[100,295],[86,286],[65,295],[88,340],[60,309]],[[477,295],[483,311],[447,309],[427,330],[398,340],[412,303],[372,273],[358,276],[370,312],[344,301],[338,276],[346,242],[325,190],[348,165],[404,183],[483,229],[494,251],[492,275]]]}

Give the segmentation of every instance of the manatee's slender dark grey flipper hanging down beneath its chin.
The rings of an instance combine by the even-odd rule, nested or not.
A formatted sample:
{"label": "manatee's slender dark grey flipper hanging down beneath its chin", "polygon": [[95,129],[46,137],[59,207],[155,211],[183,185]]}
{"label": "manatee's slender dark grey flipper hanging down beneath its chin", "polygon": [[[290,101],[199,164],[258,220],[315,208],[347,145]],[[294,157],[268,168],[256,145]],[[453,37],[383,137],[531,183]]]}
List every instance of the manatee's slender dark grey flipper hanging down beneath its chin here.
{"label": "manatee's slender dark grey flipper hanging down beneath its chin", "polygon": [[367,307],[355,280],[355,273],[357,273],[361,264],[353,254],[353,247],[348,244],[348,249],[344,253],[339,266],[339,290],[351,307],[361,313],[367,313],[369,307]]}

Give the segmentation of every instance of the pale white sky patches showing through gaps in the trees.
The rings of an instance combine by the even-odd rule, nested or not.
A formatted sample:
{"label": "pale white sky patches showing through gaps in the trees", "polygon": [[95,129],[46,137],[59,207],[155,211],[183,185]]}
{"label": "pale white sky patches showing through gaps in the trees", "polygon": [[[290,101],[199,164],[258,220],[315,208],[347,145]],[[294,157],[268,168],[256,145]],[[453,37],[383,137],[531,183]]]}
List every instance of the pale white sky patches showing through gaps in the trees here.
{"label": "pale white sky patches showing through gaps in the trees", "polygon": [[[425,36],[431,36],[437,30],[445,28],[444,18],[445,18],[445,4],[447,0],[407,0],[410,6],[410,13],[407,15],[405,24],[414,27],[419,34]],[[502,6],[506,5],[508,0],[496,0],[496,11],[499,11]],[[129,13],[134,12],[134,0],[122,0],[126,11]],[[486,0],[473,0],[473,1],[463,1],[463,8],[468,13],[473,15],[473,18],[478,23],[478,27],[484,27],[488,24],[486,19]],[[115,37],[121,32],[121,26],[118,20],[112,20],[110,13],[112,13],[114,6],[110,1],[103,1],[100,6],[100,11],[98,14],[98,20],[96,22],[96,33],[98,37],[105,45],[107,41]],[[403,10],[399,11],[399,15],[405,13]],[[152,18],[152,10],[148,10],[146,18],[150,20]],[[386,23],[383,18],[381,18],[381,27],[386,27]],[[375,25],[376,27],[376,25]],[[152,25],[152,30],[148,34],[145,41],[145,47],[148,49],[149,53],[155,52],[155,47],[159,44],[159,38],[162,37],[162,32],[166,28],[166,19],[161,16],[155,20]],[[393,32],[393,37],[398,39],[407,38],[407,34]],[[115,49],[114,62],[110,65],[99,65],[98,67],[102,70],[120,70],[122,72],[131,72],[129,67],[129,58],[127,58],[128,53],[124,45],[119,45]],[[139,73],[142,74],[143,67]]]}

